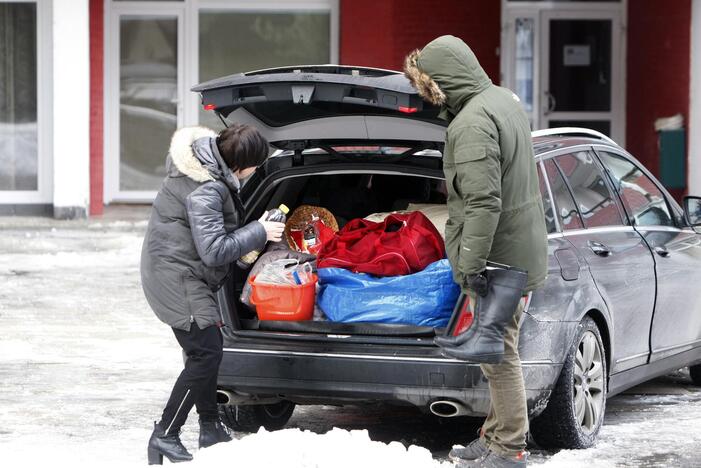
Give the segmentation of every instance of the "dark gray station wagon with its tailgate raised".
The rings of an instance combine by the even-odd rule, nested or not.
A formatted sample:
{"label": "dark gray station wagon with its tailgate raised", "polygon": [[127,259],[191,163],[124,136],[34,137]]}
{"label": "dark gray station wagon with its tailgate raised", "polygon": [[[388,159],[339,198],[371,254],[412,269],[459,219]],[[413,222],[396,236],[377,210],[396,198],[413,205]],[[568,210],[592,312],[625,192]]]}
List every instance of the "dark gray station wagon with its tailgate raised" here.
{"label": "dark gray station wagon with its tailgate raised", "polygon": [[[324,206],[339,224],[445,204],[445,123],[398,72],[335,65],[237,74],[198,85],[222,121],[277,148],[243,187],[248,219],[280,203]],[[686,209],[630,154],[586,129],[533,133],[548,225],[548,280],[523,316],[531,431],[544,447],[594,443],[606,398],[680,367],[701,384],[700,199]],[[219,399],[237,430],[282,427],[295,404],[384,401],[442,417],[485,415],[479,366],[441,356],[443,329],[259,321],[219,291]]]}

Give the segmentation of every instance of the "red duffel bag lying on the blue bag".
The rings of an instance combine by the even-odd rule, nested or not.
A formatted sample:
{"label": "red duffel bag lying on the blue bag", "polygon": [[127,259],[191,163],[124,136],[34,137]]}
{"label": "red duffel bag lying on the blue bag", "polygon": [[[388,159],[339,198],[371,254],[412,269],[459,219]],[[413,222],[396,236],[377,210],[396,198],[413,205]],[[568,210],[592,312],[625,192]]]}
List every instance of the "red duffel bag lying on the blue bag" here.
{"label": "red duffel bag lying on the blue bag", "polygon": [[445,244],[420,211],[391,214],[381,223],[354,219],[326,242],[318,268],[344,268],[375,276],[409,275],[445,257]]}

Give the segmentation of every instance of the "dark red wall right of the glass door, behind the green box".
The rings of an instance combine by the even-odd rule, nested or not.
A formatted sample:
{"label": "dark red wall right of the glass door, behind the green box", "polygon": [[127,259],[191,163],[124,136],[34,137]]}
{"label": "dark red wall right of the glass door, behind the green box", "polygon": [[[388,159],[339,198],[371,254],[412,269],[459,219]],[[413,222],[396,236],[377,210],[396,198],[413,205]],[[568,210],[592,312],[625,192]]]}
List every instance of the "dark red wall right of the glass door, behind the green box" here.
{"label": "dark red wall right of the glass door, behind the green box", "polygon": [[628,2],[626,146],[655,174],[655,119],[677,113],[689,119],[690,46],[690,0]]}

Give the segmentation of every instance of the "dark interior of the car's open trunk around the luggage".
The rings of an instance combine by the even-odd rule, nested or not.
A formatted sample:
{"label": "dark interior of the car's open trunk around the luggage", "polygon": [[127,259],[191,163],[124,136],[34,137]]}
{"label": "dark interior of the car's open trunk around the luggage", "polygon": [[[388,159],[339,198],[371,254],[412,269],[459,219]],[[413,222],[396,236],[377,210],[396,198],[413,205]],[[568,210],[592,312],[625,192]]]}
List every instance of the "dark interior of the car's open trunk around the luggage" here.
{"label": "dark interior of the car's open trunk around the luggage", "polygon": [[[339,155],[327,155],[337,158]],[[322,156],[317,156],[323,159]],[[360,156],[359,156],[360,157]],[[382,157],[379,155],[378,157]],[[418,157],[414,157],[417,159]],[[423,164],[427,165],[427,156],[423,156]],[[277,161],[276,161],[277,159]],[[338,164],[333,170],[322,170],[325,165],[307,164],[304,175],[293,174],[294,168],[288,171],[276,170],[276,166],[285,165],[282,158],[271,158],[267,169],[273,169],[272,178],[266,178],[263,183],[251,182],[258,190],[251,194],[249,220],[257,219],[264,210],[284,203],[294,212],[301,205],[324,207],[331,211],[339,224],[345,225],[354,218],[363,218],[377,213],[392,211],[421,210],[429,213],[445,211],[445,186],[441,179],[440,159],[433,157],[434,168],[417,168],[406,164],[406,161],[396,163],[388,170],[386,165],[355,164],[355,168],[343,170]],[[436,161],[437,160],[437,161]],[[345,167],[345,166],[344,166]],[[374,167],[374,169],[372,169]],[[401,168],[401,169],[400,169]],[[287,172],[285,174],[285,172]],[[272,179],[272,180],[271,180]],[[266,190],[267,187],[267,190]],[[447,213],[447,212],[446,212]],[[442,217],[432,219],[439,232],[443,232]],[[283,239],[282,242],[285,242]],[[270,244],[268,244],[270,247]],[[263,254],[261,254],[261,257]],[[259,257],[259,260],[260,258]],[[247,271],[236,271],[231,284],[231,296],[228,299],[234,305],[232,313],[235,317],[235,327],[240,331],[270,333],[275,336],[286,334],[317,335],[333,337],[387,337],[410,338],[413,340],[432,339],[436,330],[430,326],[398,323],[340,323],[328,319],[320,319],[318,312],[315,320],[310,321],[267,321],[258,320],[254,309],[241,302],[241,293],[247,281]]]}

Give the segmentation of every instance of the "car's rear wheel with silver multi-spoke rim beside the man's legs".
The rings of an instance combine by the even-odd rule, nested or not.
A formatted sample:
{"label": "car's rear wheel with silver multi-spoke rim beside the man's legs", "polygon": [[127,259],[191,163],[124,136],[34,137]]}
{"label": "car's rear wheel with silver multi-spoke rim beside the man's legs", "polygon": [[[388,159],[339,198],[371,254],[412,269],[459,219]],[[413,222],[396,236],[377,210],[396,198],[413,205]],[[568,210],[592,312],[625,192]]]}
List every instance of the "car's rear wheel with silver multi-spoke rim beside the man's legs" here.
{"label": "car's rear wheel with silver multi-spoke rim beside the man's legs", "polygon": [[606,410],[606,352],[596,323],[584,317],[545,410],[531,421],[542,448],[594,445]]}

